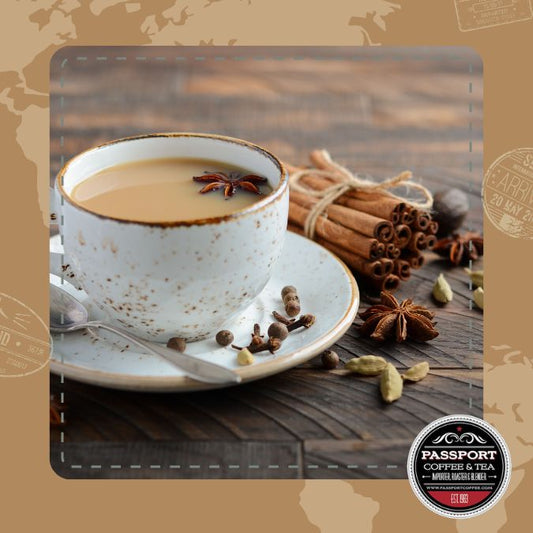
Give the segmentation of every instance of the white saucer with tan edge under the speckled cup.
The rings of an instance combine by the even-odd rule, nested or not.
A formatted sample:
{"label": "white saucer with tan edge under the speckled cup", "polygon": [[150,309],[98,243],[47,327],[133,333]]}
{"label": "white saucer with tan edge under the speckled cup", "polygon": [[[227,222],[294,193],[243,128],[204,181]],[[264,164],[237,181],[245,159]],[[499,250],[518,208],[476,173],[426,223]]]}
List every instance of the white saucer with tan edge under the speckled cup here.
{"label": "white saucer with tan edge under the speckled cup", "polygon": [[[57,248],[59,236],[50,240]],[[56,276],[52,283],[61,284]],[[344,263],[322,246],[287,233],[282,256],[272,279],[263,292],[241,315],[229,320],[225,327],[235,335],[234,343],[246,346],[254,323],[267,329],[272,323],[273,310],[283,312],[281,288],[295,285],[300,296],[302,312],[316,316],[308,330],[296,330],[274,355],[257,354],[255,362],[239,366],[236,351],[220,347],[214,339],[191,343],[187,353],[234,369],[243,382],[253,381],[303,363],[337,341],[350,327],[359,307],[357,283]],[[88,308],[91,319],[103,319],[102,312],[83,291],[64,283],[63,288]],[[143,391],[192,391],[216,388],[199,383],[180,373],[157,356],[144,354],[136,347],[104,331],[77,331],[52,336],[54,350],[51,371],[67,378],[115,389]]]}

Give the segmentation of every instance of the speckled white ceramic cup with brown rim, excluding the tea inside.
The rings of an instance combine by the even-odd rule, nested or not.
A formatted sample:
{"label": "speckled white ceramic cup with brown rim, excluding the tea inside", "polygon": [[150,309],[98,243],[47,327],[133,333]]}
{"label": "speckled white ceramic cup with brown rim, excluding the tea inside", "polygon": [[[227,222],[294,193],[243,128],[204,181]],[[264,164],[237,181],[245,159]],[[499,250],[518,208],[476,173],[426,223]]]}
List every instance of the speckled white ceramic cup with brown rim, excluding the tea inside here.
{"label": "speckled white ceramic cup with brown rim, excluding the tea inside", "polygon": [[[102,216],[71,196],[107,167],[167,157],[244,167],[268,178],[273,191],[231,215],[161,223]],[[198,340],[231,327],[231,317],[267,284],[287,227],[288,179],[280,161],[219,135],[163,133],[103,144],[71,159],[52,195],[64,256],[51,254],[51,272],[81,286],[110,322],[159,342]]]}

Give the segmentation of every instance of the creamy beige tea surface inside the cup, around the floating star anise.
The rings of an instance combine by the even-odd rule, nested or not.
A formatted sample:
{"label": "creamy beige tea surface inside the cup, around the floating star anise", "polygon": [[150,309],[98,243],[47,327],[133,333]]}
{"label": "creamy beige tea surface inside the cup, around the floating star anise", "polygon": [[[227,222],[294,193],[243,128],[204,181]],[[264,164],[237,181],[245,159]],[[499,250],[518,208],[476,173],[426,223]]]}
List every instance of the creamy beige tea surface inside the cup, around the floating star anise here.
{"label": "creamy beige tea surface inside the cup, around the floating star anise", "polygon": [[139,222],[172,222],[228,215],[244,209],[271,192],[262,184],[261,195],[238,188],[231,198],[224,187],[205,194],[205,183],[194,176],[222,172],[232,178],[252,172],[211,159],[144,159],[106,168],[82,181],[72,191],[80,205],[110,217]]}

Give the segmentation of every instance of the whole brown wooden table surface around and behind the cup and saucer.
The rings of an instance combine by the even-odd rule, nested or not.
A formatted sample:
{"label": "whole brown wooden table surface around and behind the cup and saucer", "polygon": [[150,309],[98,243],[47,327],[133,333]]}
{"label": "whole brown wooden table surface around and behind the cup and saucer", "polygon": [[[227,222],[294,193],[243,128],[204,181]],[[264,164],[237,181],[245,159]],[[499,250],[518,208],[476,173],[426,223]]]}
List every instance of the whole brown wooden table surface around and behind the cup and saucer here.
{"label": "whole brown wooden table surface around and behind the cup and saucer", "polygon": [[[68,61],[65,62],[65,59]],[[291,163],[323,147],[377,179],[410,169],[432,191],[465,191],[481,230],[481,63],[463,49],[71,48],[51,64],[51,178],[62,159],[154,131],[241,137]],[[480,263],[481,264],[481,263]],[[436,308],[433,281],[455,292]],[[80,478],[402,478],[413,437],[452,413],[482,416],[482,314],[462,268],[433,254],[397,295],[437,313],[428,343],[376,344],[355,324],[343,361],[425,360],[423,381],[385,405],[375,378],[341,376],[319,358],[236,388],[123,392],[51,376],[65,424],[51,462]],[[362,303],[361,308],[367,304]]]}

